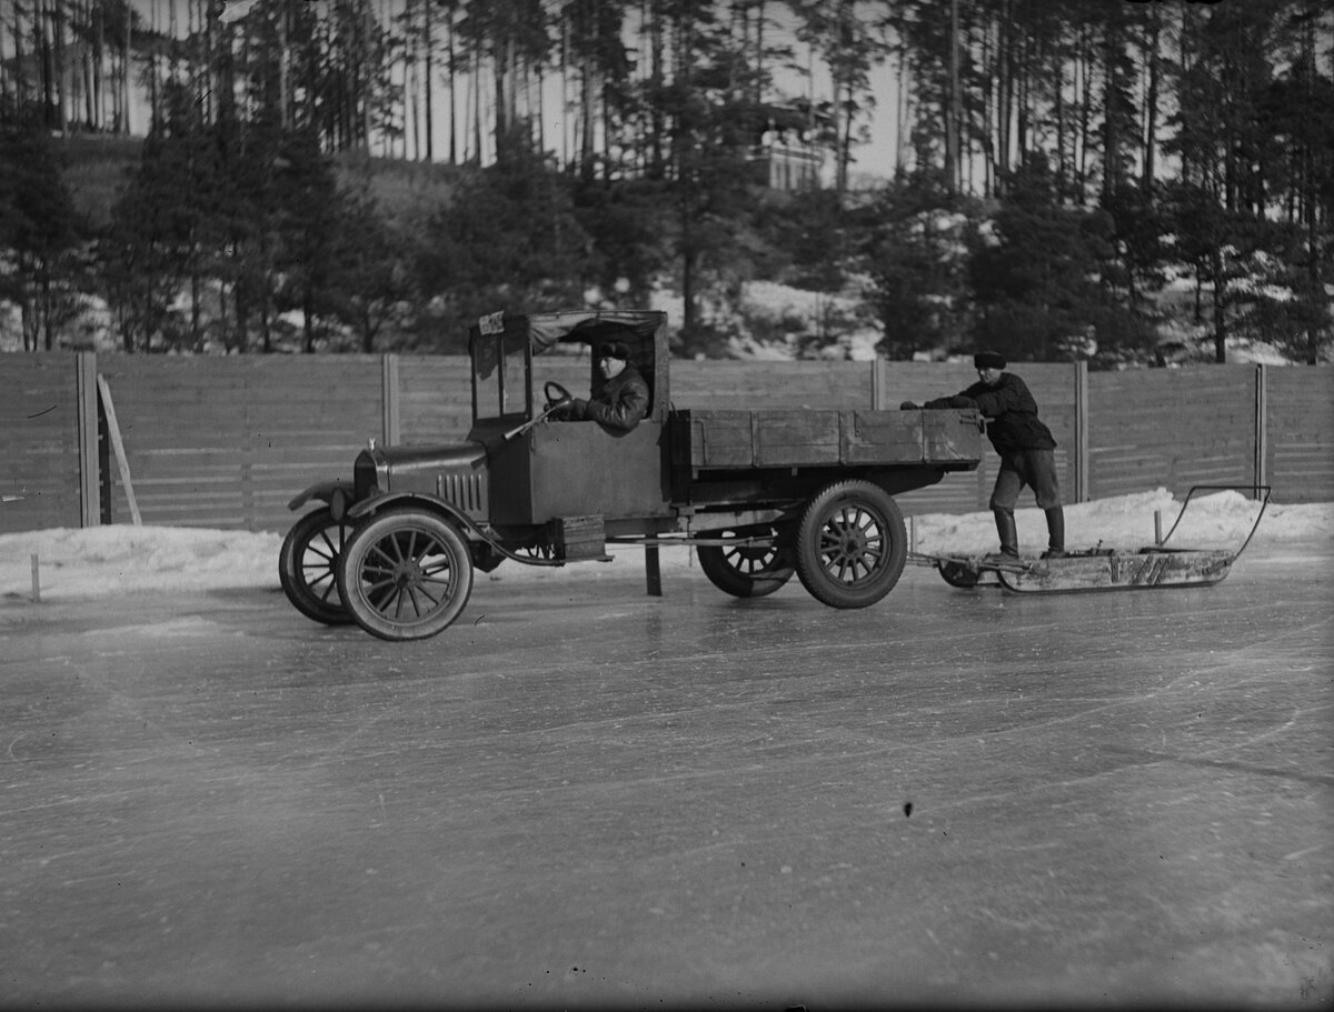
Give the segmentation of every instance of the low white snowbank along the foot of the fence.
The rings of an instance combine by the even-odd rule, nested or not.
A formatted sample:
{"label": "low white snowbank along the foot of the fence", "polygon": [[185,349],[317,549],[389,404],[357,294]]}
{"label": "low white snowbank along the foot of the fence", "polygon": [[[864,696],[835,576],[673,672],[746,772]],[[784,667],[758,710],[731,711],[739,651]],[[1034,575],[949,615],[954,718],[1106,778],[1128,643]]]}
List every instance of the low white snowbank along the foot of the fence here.
{"label": "low white snowbank along the foot of the fence", "polygon": [[[1259,504],[1239,492],[1197,496],[1170,545],[1178,548],[1239,548]],[[1159,488],[1066,507],[1069,548],[1141,548],[1154,543],[1154,513],[1166,535],[1181,500]],[[1039,552],[1046,524],[1039,509],[1017,511],[1021,547]],[[988,552],[996,545],[990,512],[935,513],[910,520],[912,548],[919,552]],[[0,535],[0,599],[32,597],[32,556],[37,556],[43,601],[96,600],[128,593],[185,593],[212,589],[277,589],[277,553],[283,536],[245,531],[204,531],[183,527],[115,524],[84,529],[53,528]],[[1334,543],[1334,503],[1270,504],[1255,533],[1254,547],[1293,543]],[[618,561],[574,567],[579,579],[626,576],[643,569],[643,551],[614,545]],[[696,567],[691,552],[662,551],[664,572]],[[506,563],[492,573],[478,573],[479,584],[564,579],[564,568]]]}

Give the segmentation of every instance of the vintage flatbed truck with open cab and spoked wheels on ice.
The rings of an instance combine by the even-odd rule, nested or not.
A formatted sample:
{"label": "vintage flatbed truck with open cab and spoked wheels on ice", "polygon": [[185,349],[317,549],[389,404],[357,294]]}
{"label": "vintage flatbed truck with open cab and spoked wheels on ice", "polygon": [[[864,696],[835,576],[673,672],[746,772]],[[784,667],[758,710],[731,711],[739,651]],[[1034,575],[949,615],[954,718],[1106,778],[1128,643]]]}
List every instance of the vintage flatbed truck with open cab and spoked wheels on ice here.
{"label": "vintage flatbed truck with open cab and spoked wheels on ice", "polygon": [[[292,501],[291,603],[390,640],[434,636],[463,611],[475,569],[610,561],[608,545],[688,545],[719,589],[772,593],[795,573],[819,601],[864,608],[907,559],[894,496],[982,459],[972,409],[676,409],[666,315],[495,313],[470,331],[472,427],[454,445],[378,447],[352,480]],[[650,388],[631,431],[556,421],[571,356],[618,340]],[[555,364],[563,364],[556,369]]]}

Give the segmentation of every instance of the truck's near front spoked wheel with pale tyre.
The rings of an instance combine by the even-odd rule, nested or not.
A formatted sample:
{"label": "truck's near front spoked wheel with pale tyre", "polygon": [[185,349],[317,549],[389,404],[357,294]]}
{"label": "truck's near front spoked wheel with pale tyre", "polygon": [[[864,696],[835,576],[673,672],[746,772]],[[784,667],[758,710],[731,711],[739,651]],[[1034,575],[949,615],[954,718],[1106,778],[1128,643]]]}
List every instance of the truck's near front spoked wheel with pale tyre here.
{"label": "truck's near front spoked wheel with pale tyre", "polygon": [[356,624],[386,640],[422,640],[448,627],[472,593],[472,559],[447,521],[391,509],[352,531],[339,591]]}

